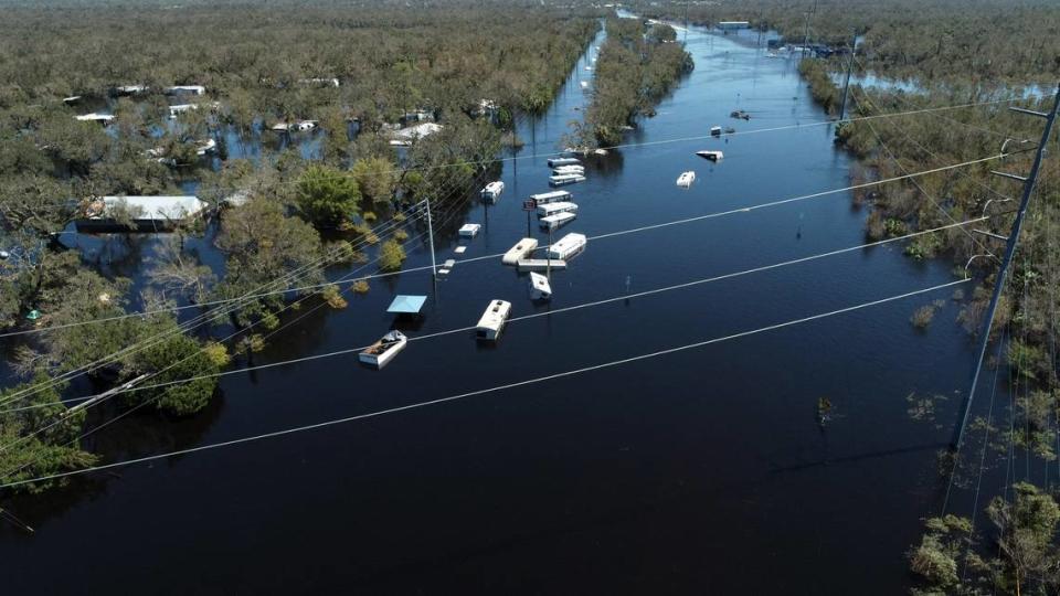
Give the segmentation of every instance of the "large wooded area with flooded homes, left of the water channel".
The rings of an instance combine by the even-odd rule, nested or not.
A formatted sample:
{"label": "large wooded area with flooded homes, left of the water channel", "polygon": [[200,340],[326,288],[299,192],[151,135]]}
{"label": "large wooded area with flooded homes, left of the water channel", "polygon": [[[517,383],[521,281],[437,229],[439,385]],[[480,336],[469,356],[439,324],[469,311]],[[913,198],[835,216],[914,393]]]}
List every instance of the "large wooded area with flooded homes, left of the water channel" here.
{"label": "large wooded area with flooded homes, left of the water channel", "polygon": [[[96,459],[77,440],[84,413],[60,418],[73,390],[56,375],[85,368],[104,387],[152,375],[163,386],[125,393],[124,406],[188,415],[214,394],[209,375],[279,329],[293,294],[342,308],[343,291],[368,290],[328,285],[328,267],[368,265],[374,251],[374,267],[400,268],[420,225],[406,207],[431,198],[447,209],[465,195],[516,116],[550,104],[598,29],[592,12],[515,3],[6,4],[0,327],[54,329],[7,340],[24,383],[0,394],[0,481]],[[205,93],[165,93],[172,85]],[[180,104],[194,107],[172,114]],[[89,111],[114,120],[75,120]],[[268,130],[300,120],[316,130]],[[423,121],[441,128],[410,137],[399,159],[395,129]],[[226,147],[232,138],[241,147]],[[216,158],[201,155],[208,140]],[[299,147],[310,141],[307,158]],[[160,236],[146,284],[59,242],[91,198],[184,194],[188,184],[220,224],[192,220]],[[113,217],[131,225],[135,213],[119,211]],[[380,224],[388,238],[372,232]],[[204,237],[223,266],[188,247]],[[181,319],[172,311],[236,298]],[[199,315],[212,331],[178,327]],[[91,319],[106,320],[74,324]],[[189,377],[200,379],[180,382]]]}

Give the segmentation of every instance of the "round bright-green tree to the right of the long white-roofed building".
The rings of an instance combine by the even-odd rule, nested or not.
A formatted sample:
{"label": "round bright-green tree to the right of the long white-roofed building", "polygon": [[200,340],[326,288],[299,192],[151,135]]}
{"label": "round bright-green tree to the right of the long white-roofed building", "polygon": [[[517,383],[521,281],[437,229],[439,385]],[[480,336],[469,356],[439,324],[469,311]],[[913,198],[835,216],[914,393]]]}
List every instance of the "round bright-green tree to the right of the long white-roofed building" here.
{"label": "round bright-green tree to the right of the long white-roofed building", "polygon": [[310,166],[298,178],[298,207],[317,227],[341,227],[359,211],[361,193],[348,172]]}

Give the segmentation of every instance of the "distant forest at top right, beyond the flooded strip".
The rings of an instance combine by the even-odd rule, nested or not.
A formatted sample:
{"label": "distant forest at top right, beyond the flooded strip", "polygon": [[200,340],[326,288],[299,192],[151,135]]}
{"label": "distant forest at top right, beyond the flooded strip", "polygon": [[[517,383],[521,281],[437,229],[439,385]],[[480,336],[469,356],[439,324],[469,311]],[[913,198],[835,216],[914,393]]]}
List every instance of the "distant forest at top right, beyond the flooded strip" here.
{"label": "distant forest at top right, beyond the flooded strip", "polygon": [[[635,6],[648,17],[685,18],[682,2]],[[857,32],[868,66],[888,77],[984,87],[1051,87],[1060,77],[1060,4],[1051,0],[725,0],[691,4],[688,18],[750,21],[793,44],[808,31],[812,43],[849,45]]]}

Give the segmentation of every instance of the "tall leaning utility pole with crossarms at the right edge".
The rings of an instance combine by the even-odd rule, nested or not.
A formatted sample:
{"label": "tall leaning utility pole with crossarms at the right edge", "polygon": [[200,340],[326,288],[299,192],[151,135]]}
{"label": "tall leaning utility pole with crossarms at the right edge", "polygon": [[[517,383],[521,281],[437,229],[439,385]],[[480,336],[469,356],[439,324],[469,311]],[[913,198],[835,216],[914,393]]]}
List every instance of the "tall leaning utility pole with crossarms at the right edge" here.
{"label": "tall leaning utility pole with crossarms at the right edge", "polygon": [[957,421],[957,426],[954,429],[953,448],[955,451],[961,449],[961,443],[964,440],[964,430],[968,423],[968,414],[972,412],[972,401],[975,398],[975,389],[978,385],[979,371],[983,369],[983,361],[986,358],[986,344],[990,340],[990,328],[994,326],[994,315],[997,312],[997,301],[1001,297],[1001,290],[1005,289],[1008,267],[1013,262],[1013,255],[1016,253],[1016,245],[1019,244],[1019,232],[1024,226],[1024,216],[1027,214],[1030,194],[1035,190],[1035,183],[1038,182],[1038,170],[1041,167],[1041,157],[1046,152],[1046,146],[1049,145],[1049,139],[1052,136],[1052,125],[1057,119],[1058,108],[1060,108],[1060,85],[1057,86],[1057,94],[1052,100],[1052,109],[1048,113],[1016,107],[1008,108],[1019,114],[1045,118],[1046,129],[1041,132],[1041,142],[1038,143],[1038,150],[1035,152],[1035,162],[1030,167],[1030,174],[1027,178],[1008,172],[990,172],[1003,178],[1022,181],[1024,195],[1019,201],[1016,221],[1013,222],[1013,230],[1008,235],[1008,244],[1005,246],[1005,258],[1001,259],[1001,268],[997,272],[997,280],[994,281],[994,294],[990,296],[990,305],[986,309],[983,329],[979,331],[979,355],[975,363],[975,371],[972,374],[972,387],[968,390],[967,395],[964,396],[964,404],[961,408],[961,419]]}

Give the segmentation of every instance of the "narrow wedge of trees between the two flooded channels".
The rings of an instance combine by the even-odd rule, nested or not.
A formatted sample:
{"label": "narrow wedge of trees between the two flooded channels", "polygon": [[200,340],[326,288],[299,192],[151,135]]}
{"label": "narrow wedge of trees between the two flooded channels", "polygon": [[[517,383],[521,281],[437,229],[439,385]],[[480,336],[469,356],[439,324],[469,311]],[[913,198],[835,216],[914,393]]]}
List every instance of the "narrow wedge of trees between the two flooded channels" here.
{"label": "narrow wedge of trees between the two flooded channels", "polygon": [[579,131],[579,146],[617,145],[635,116],[655,113],[653,106],[693,66],[676,39],[674,28],[666,24],[607,20],[607,41],[596,61],[593,103]]}

